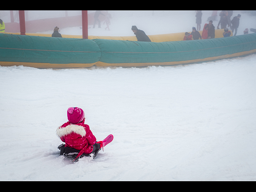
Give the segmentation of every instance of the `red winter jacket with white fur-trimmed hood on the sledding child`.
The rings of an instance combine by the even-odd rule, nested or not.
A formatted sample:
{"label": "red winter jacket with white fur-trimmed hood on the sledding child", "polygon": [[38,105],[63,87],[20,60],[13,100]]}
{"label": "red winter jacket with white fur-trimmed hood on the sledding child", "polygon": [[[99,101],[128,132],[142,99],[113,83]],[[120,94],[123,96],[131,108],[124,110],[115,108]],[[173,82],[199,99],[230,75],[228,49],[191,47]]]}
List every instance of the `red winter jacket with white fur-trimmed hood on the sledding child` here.
{"label": "red winter jacket with white fur-trimmed hood on the sledding child", "polygon": [[62,142],[65,142],[65,147],[80,150],[78,156],[83,153],[91,153],[93,150],[92,145],[96,143],[95,136],[92,134],[90,127],[84,124],[84,120],[78,124],[66,122],[57,128],[56,134]]}

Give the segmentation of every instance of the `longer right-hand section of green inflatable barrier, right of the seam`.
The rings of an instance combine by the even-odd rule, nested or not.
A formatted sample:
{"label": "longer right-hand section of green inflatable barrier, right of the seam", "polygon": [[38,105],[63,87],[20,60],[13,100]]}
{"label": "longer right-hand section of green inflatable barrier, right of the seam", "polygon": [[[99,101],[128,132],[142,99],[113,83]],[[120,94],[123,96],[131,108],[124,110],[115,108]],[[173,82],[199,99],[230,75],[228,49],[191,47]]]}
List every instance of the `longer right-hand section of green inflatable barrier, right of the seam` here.
{"label": "longer right-hand section of green inflatable barrier, right of the seam", "polygon": [[153,66],[203,62],[256,52],[256,34],[175,42],[94,40],[102,51],[97,66]]}

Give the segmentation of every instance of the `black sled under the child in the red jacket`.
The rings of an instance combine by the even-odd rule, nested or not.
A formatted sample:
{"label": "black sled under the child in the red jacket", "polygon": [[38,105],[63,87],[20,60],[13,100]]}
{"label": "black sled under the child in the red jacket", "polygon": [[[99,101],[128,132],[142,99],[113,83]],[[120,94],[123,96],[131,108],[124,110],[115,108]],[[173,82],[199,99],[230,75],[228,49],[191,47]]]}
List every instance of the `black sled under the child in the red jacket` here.
{"label": "black sled under the child in the red jacket", "polygon": [[[65,144],[59,145],[58,149],[60,150],[60,155],[64,155],[64,156],[72,158],[72,159],[75,159],[76,156],[78,155],[78,153],[80,152],[77,149],[70,148],[70,147],[65,147]],[[92,156],[93,158],[96,158],[96,156],[97,156],[97,154],[100,150],[101,150],[101,148],[96,150],[95,152],[91,152],[90,154],[83,153],[75,161],[78,161],[78,159],[80,159],[84,156],[86,156],[86,157],[91,157]]]}

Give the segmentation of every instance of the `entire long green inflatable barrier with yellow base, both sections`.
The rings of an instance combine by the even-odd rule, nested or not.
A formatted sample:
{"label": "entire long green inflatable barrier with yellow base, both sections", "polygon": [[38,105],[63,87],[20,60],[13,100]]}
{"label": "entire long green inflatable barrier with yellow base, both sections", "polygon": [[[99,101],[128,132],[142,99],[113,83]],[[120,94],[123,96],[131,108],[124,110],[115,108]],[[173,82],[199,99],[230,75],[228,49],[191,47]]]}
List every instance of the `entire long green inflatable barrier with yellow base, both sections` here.
{"label": "entire long green inflatable barrier with yellow base, both sections", "polygon": [[0,34],[0,65],[37,68],[164,66],[256,52],[256,34],[225,38],[138,42]]}

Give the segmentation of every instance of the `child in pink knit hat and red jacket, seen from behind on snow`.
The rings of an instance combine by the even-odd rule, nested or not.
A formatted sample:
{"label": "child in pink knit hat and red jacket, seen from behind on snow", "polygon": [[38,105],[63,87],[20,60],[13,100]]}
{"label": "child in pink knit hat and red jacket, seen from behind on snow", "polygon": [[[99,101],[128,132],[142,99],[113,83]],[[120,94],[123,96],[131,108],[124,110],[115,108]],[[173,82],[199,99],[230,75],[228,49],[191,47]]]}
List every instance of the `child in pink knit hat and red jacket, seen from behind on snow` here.
{"label": "child in pink knit hat and red jacket, seen from behind on snow", "polygon": [[80,150],[76,158],[83,153],[90,154],[100,148],[103,149],[104,146],[113,140],[113,136],[110,135],[106,139],[96,142],[96,137],[92,134],[90,127],[84,124],[84,111],[81,108],[70,107],[67,114],[68,122],[59,126],[56,134],[62,142],[65,142],[65,147]]}

